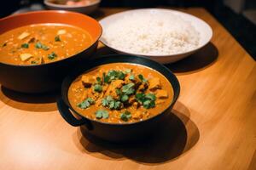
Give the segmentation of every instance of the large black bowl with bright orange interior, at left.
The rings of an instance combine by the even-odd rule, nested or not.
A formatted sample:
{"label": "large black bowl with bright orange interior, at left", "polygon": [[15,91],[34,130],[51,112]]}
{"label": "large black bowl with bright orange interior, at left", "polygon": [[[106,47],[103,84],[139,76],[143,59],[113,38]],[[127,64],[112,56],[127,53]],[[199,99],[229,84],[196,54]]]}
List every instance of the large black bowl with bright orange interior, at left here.
{"label": "large black bowl with bright orange interior, at left", "polygon": [[68,11],[36,11],[15,14],[0,19],[0,34],[20,26],[57,23],[77,26],[88,31],[93,39],[89,48],[67,59],[43,65],[9,65],[0,62],[0,83],[3,87],[22,93],[44,93],[61,88],[61,82],[69,71],[84,60],[88,60],[97,48],[102,34],[99,23],[84,14]]}

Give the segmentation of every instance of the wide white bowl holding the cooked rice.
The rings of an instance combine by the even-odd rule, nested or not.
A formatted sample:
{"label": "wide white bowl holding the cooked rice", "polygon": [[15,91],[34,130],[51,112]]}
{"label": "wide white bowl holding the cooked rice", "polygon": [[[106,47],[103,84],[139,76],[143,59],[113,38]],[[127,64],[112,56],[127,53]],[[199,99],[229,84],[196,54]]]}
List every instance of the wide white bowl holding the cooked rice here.
{"label": "wide white bowl holding the cooked rice", "polygon": [[136,54],[136,53],[131,53],[129,51],[125,51],[124,49],[121,48],[113,48],[111,45],[108,44],[108,41],[104,39],[102,36],[100,38],[100,41],[108,46],[108,48],[112,48],[114,51],[120,53],[120,54],[132,54],[132,55],[138,55],[138,56],[145,56],[150,59],[154,59],[155,61],[158,61],[162,64],[167,64],[167,63],[173,63],[177,60],[183,59],[185,57],[188,57],[190,54],[195,53],[195,51],[199,50],[200,48],[204,47],[208,42],[210,42],[212,38],[212,28],[203,20],[191,15],[191,14],[186,14],[183,12],[179,12],[176,10],[171,10],[171,9],[162,9],[162,8],[143,8],[143,9],[134,9],[134,10],[128,10],[125,12],[121,12],[118,14],[112,14],[109,15],[108,17],[100,20],[100,24],[102,25],[103,29],[103,34],[104,35],[104,29],[107,28],[109,25],[111,25],[115,20],[119,20],[124,18],[126,15],[131,15],[131,14],[148,14],[148,13],[158,13],[158,14],[164,14],[166,17],[168,17],[168,14],[175,14],[178,17],[180,17],[182,20],[189,21],[192,26],[195,27],[195,30],[200,33],[200,42],[197,48],[182,52],[182,53],[177,53],[177,54],[167,54],[167,55],[153,55],[153,54]]}

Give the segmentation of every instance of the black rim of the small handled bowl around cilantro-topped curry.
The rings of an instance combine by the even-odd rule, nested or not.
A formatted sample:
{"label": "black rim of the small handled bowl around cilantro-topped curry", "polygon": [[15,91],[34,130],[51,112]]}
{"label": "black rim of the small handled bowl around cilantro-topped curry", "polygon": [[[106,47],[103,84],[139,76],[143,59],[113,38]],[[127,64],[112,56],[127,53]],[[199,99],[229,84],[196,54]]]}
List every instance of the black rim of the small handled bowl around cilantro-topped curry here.
{"label": "black rim of the small handled bowl around cilantro-topped curry", "polygon": [[[120,55],[121,55],[121,57],[123,57],[123,59],[119,59]],[[111,62],[111,61],[110,61],[110,62],[109,62],[109,61],[103,60],[104,58],[113,59],[113,60],[118,59],[118,61],[114,61],[114,62]],[[125,62],[124,62],[124,58],[126,58],[126,59],[127,59],[127,58],[130,58],[130,59],[131,59],[131,58],[137,58],[137,59],[141,59],[141,60],[143,60],[143,61],[145,61],[145,62],[147,62],[147,63],[148,63],[148,62],[151,62],[152,64],[156,65],[155,67],[161,67],[162,70],[160,70],[160,71],[165,70],[165,71],[168,73],[168,75],[173,78],[173,80],[174,80],[173,82],[174,82],[174,83],[177,83],[177,89],[176,89],[177,92],[175,92],[175,89],[174,89],[174,87],[172,86],[172,81],[170,81],[169,78],[167,78],[167,77],[166,77],[162,72],[160,72],[159,70],[156,70],[155,68],[151,68],[150,66],[145,65],[145,64],[143,64],[143,63],[136,63],[134,60],[125,61]],[[97,62],[101,62],[101,61],[100,61],[101,59],[102,59],[102,62],[103,62],[103,63],[100,63],[100,64],[97,63]],[[83,117],[83,118],[86,119],[86,120],[89,120],[90,122],[101,123],[101,124],[103,124],[103,125],[109,125],[109,126],[131,126],[131,125],[133,125],[133,124],[139,124],[139,123],[143,123],[143,122],[148,122],[148,121],[150,121],[150,120],[152,120],[152,119],[154,119],[154,118],[156,118],[156,117],[162,115],[163,113],[165,113],[166,111],[168,111],[169,109],[171,109],[172,106],[177,102],[177,99],[178,99],[179,94],[180,94],[180,83],[179,83],[177,77],[176,77],[175,74],[172,73],[172,71],[170,71],[165,65],[162,65],[162,64],[160,64],[160,63],[158,63],[158,62],[156,62],[156,61],[154,61],[154,60],[152,60],[152,59],[148,59],[147,57],[143,57],[143,56],[141,57],[141,56],[134,56],[134,55],[129,55],[129,54],[108,54],[108,55],[102,55],[101,57],[96,58],[96,59],[91,59],[89,62],[90,62],[90,63],[95,63],[95,65],[91,66],[91,65],[89,65],[90,63],[87,63],[87,65],[88,65],[89,68],[86,68],[86,69],[83,69],[83,66],[80,65],[80,67],[79,67],[77,70],[73,70],[69,75],[67,75],[67,77],[64,78],[64,80],[63,80],[63,82],[62,82],[62,84],[61,84],[61,99],[64,101],[64,103],[69,107],[69,109],[70,109],[73,113],[75,113],[75,114],[77,114],[77,115]],[[85,71],[89,71],[90,69],[95,68],[96,66],[99,66],[99,65],[108,65],[108,64],[112,64],[112,63],[137,64],[137,65],[142,65],[142,66],[145,66],[145,67],[149,67],[149,68],[151,68],[151,69],[153,69],[153,70],[155,70],[155,71],[158,71],[163,77],[166,77],[167,81],[171,83],[171,86],[172,86],[172,88],[173,88],[173,99],[172,99],[172,102],[170,103],[170,105],[168,105],[168,107],[166,107],[166,109],[165,109],[164,111],[161,111],[159,114],[157,114],[157,115],[155,115],[155,116],[151,116],[151,117],[149,117],[149,118],[147,118],[147,119],[144,119],[143,121],[140,121],[140,122],[125,122],[125,123],[101,122],[101,121],[98,121],[98,120],[90,119],[90,118],[88,118],[88,117],[86,117],[86,116],[83,116],[83,115],[80,114],[78,111],[75,111],[75,110],[73,109],[72,105],[70,105],[70,102],[69,102],[69,99],[68,99],[68,89],[70,88],[70,85],[72,84],[72,82],[73,82],[77,77],[79,77],[81,74],[83,74]],[[68,87],[67,87],[67,86],[68,86]],[[175,95],[175,94],[177,94],[177,95]],[[84,124],[86,124],[86,123],[84,123]]]}

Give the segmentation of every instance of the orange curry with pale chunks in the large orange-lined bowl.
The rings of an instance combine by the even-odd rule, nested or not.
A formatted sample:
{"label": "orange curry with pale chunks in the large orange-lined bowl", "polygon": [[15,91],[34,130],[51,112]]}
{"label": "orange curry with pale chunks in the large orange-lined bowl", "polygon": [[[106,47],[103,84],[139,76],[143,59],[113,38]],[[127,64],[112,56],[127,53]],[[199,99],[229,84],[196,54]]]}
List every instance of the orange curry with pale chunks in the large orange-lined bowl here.
{"label": "orange curry with pale chunks in the large orange-lined bowl", "polygon": [[61,24],[22,26],[0,35],[0,62],[41,65],[78,54],[92,44],[87,31]]}

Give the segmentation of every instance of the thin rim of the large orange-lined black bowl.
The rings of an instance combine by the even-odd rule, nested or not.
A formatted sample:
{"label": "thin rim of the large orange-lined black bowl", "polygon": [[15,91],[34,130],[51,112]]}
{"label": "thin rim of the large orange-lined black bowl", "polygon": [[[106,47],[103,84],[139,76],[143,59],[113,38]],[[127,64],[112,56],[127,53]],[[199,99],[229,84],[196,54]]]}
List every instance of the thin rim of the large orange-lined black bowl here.
{"label": "thin rim of the large orange-lined black bowl", "polygon": [[[75,57],[78,54],[82,54],[85,50],[87,50],[87,49],[91,48],[93,45],[95,45],[95,43],[99,41],[100,37],[102,37],[102,26],[99,24],[99,22],[97,20],[95,20],[94,18],[92,18],[92,17],[90,17],[90,16],[88,16],[86,14],[80,14],[80,13],[77,13],[77,12],[67,11],[67,10],[39,10],[39,11],[32,11],[32,12],[21,13],[21,14],[11,14],[9,16],[6,16],[6,17],[0,19],[0,23],[1,23],[2,20],[9,20],[9,19],[12,19],[12,18],[15,18],[15,17],[20,17],[20,16],[23,16],[23,15],[44,14],[44,13],[77,14],[77,15],[80,15],[80,16],[83,16],[83,17],[90,18],[90,20],[94,20],[98,24],[98,26],[100,28],[99,35],[98,35],[98,37],[96,37],[95,41],[90,44],[90,46],[88,46],[87,48],[84,48],[83,50],[79,51],[76,54],[70,55],[69,57],[67,57],[65,59],[60,59],[60,60],[56,60],[56,61],[53,61],[53,62],[50,62],[50,63],[44,63],[44,64],[41,64],[41,65],[13,65],[13,64],[9,64],[9,63],[3,63],[2,61],[0,61],[1,65],[9,65],[9,66],[15,66],[15,67],[38,67],[38,66],[55,64],[55,63],[57,63],[59,61],[64,61],[64,60],[67,60],[69,58],[73,58],[73,57]],[[47,23],[43,23],[43,24],[47,24]],[[53,24],[60,24],[60,23],[56,22],[56,23],[53,23]],[[24,26],[29,26],[29,25],[24,25]],[[70,26],[73,26],[73,25],[70,25]],[[79,27],[79,26],[77,26],[77,27]],[[15,27],[15,28],[19,28],[19,27]]]}

